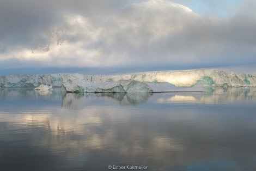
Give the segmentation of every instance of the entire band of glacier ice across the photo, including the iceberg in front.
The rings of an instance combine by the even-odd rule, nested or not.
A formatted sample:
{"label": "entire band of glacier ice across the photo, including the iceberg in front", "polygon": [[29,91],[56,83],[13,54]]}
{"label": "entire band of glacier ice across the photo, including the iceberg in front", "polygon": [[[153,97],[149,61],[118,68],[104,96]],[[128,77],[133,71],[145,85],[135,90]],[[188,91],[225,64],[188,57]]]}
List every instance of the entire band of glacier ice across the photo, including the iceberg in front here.
{"label": "entire band of glacier ice across the photo, including the iceberg in front", "polygon": [[218,69],[151,71],[124,75],[6,75],[0,87],[62,87],[62,91],[151,93],[205,91],[211,87],[256,87],[256,76]]}

